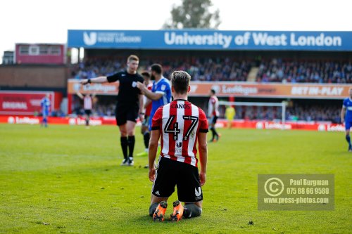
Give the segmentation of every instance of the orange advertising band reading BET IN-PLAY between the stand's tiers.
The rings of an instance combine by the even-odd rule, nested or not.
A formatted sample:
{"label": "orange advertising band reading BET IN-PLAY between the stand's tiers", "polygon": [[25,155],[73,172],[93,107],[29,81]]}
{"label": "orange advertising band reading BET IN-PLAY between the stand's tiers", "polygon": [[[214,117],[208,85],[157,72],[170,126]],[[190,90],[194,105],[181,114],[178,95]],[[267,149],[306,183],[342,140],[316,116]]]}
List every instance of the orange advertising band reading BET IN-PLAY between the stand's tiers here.
{"label": "orange advertising band reading BET IN-PLAY between the stand's tiers", "polygon": [[[217,96],[260,98],[324,98],[342,99],[348,96],[346,84],[248,84],[246,82],[191,82],[189,96],[208,96],[214,89]],[[77,80],[68,81],[68,93],[117,95],[118,83],[82,86]]]}

